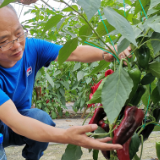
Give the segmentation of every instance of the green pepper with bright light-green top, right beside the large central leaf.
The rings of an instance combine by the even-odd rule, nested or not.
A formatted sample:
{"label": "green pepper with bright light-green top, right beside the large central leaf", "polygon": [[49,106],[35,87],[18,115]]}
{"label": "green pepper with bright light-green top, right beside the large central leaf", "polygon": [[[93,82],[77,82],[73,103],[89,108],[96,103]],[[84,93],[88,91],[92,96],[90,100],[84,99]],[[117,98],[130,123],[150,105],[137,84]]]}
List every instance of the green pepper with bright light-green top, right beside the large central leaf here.
{"label": "green pepper with bright light-green top, right beside the large central leaf", "polygon": [[139,82],[141,80],[141,71],[139,70],[139,68],[137,66],[134,69],[129,70],[128,73],[129,73],[129,76],[132,78],[134,85],[133,85],[132,91],[131,91],[131,93],[129,95],[129,98],[126,101],[126,105],[128,103],[130,103],[131,99],[135,95],[135,93],[136,93],[136,91],[138,89]]}

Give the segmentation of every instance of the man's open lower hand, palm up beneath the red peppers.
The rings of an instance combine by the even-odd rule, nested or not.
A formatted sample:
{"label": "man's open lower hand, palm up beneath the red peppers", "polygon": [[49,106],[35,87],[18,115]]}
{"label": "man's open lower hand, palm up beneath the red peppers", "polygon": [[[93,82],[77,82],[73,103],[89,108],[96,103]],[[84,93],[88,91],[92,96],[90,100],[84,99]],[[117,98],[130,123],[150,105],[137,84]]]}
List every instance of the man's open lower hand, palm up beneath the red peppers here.
{"label": "man's open lower hand, palm up beneath the red peppers", "polygon": [[66,143],[82,146],[88,149],[96,149],[103,151],[122,149],[122,146],[119,144],[106,143],[112,140],[109,137],[103,139],[93,139],[87,137],[87,132],[92,132],[97,128],[98,126],[96,124],[71,127],[65,132]]}

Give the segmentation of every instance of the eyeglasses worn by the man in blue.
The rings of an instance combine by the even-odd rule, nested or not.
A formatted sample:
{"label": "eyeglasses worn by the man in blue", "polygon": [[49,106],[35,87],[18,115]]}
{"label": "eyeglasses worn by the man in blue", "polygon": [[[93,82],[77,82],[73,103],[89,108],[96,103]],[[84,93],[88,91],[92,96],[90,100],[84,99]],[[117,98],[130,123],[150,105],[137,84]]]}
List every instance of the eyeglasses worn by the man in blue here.
{"label": "eyeglasses worn by the man in blue", "polygon": [[23,32],[20,36],[18,36],[15,40],[12,40],[12,41],[10,41],[10,42],[8,42],[8,43],[5,43],[5,44],[1,45],[1,46],[0,46],[0,49],[1,49],[2,51],[7,51],[7,50],[9,50],[10,48],[12,48],[15,41],[17,41],[17,42],[20,43],[20,42],[22,42],[22,41],[25,40],[25,38],[26,38],[27,35],[28,35],[28,30],[27,30],[23,25],[22,25],[22,27],[23,27],[23,29],[24,29],[24,32]]}

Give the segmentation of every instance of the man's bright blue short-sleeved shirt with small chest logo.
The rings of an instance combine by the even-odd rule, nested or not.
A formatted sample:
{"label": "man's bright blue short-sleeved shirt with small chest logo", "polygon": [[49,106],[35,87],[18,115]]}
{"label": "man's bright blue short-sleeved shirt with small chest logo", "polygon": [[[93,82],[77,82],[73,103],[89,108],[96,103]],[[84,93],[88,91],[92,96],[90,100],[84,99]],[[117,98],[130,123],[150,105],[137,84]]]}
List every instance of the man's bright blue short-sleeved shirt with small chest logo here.
{"label": "man's bright blue short-sleeved shirt with small chest logo", "polygon": [[0,105],[11,99],[17,109],[29,109],[36,73],[58,56],[62,46],[26,38],[23,57],[11,68],[0,66]]}

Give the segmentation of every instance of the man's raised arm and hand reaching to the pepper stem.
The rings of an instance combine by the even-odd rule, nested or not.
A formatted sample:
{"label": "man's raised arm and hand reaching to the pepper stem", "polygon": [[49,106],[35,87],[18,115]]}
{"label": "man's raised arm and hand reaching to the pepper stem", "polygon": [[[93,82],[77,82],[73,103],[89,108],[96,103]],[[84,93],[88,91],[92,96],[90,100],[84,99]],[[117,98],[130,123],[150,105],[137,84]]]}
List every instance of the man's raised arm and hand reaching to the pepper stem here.
{"label": "man's raised arm and hand reaching to the pepper stem", "polygon": [[[113,47],[111,47],[113,48]],[[115,46],[115,48],[117,48]],[[124,50],[122,53],[119,54],[119,58],[125,58],[126,56],[130,55],[131,48],[128,47],[126,50]],[[65,54],[65,53],[64,53]],[[103,54],[104,54],[104,59],[107,62],[112,62],[114,57],[113,55],[102,51],[101,49],[92,47],[92,46],[78,46],[69,56],[67,61],[78,61],[78,62],[85,62],[85,63],[90,63],[90,62],[95,62],[95,61],[100,61],[103,60]],[[58,57],[56,58],[56,61],[58,60]]]}

